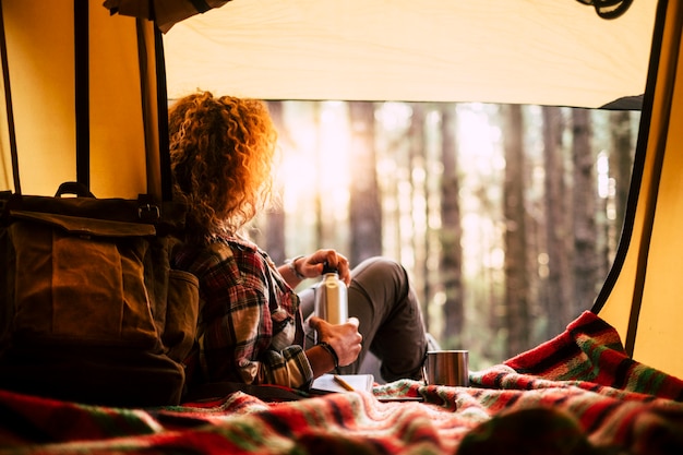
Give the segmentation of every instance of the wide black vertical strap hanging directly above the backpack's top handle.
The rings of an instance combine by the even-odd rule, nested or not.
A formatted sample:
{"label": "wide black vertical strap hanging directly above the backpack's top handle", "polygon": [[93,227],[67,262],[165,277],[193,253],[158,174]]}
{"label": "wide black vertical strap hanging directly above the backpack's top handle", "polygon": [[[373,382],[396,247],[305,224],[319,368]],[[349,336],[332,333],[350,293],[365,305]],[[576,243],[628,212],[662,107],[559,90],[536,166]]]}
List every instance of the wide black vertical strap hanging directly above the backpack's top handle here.
{"label": "wide black vertical strap hanging directly above the backpack's top handle", "polygon": [[88,2],[73,2],[75,56],[76,181],[91,189]]}

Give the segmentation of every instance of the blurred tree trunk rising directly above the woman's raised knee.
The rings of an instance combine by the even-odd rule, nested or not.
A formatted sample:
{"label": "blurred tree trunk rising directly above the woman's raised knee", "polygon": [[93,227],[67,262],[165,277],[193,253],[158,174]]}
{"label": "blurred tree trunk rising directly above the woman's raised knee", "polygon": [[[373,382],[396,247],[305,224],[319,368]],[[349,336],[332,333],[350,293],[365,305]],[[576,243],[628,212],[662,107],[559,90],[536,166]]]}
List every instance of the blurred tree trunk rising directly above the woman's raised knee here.
{"label": "blurred tree trunk rising directly above the woman's raised knee", "polygon": [[350,182],[349,261],[352,265],[382,254],[382,205],[376,176],[374,147],[374,104],[348,104],[351,123],[349,158],[354,170]]}

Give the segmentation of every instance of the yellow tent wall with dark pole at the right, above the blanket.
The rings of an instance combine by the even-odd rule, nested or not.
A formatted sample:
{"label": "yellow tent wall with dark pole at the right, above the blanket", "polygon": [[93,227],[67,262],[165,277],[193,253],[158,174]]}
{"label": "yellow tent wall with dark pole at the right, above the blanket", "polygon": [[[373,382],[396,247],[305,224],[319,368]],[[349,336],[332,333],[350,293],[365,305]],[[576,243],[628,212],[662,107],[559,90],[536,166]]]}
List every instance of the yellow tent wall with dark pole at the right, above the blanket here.
{"label": "yellow tent wall with dark pole at the right, above the blanket", "polygon": [[683,378],[683,2],[659,8],[631,193],[635,217],[594,311],[636,360]]}

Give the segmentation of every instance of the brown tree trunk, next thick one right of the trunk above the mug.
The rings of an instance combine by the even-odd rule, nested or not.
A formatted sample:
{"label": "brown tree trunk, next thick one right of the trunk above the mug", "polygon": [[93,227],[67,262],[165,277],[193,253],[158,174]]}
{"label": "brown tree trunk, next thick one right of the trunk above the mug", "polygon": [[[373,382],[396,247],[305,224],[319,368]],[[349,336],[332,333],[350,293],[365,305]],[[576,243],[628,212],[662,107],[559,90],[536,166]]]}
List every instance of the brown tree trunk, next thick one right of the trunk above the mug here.
{"label": "brown tree trunk, next thick one right of the trunk above the mug", "polygon": [[503,137],[505,149],[504,217],[505,217],[505,303],[507,322],[507,356],[515,356],[529,346],[529,290],[526,248],[524,120],[522,107],[504,106]]}

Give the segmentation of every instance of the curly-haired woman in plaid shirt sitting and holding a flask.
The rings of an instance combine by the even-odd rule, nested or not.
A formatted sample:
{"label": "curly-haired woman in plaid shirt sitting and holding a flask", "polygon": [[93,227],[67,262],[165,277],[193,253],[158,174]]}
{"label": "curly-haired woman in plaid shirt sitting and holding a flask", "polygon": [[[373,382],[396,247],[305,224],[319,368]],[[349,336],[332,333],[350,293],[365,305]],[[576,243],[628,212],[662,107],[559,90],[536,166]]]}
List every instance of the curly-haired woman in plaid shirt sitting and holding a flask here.
{"label": "curly-haired woman in plaid shirt sitting and holding a flask", "polygon": [[[175,266],[200,279],[197,337],[203,381],[278,384],[307,390],[337,369],[357,373],[368,350],[386,381],[419,379],[427,336],[405,270],[375,258],[354,271],[335,250],[276,266],[240,228],[271,195],[276,131],[262,101],[197,93],[169,110],[171,168],[178,200],[189,207],[184,246]],[[338,268],[347,284],[348,322],[310,316],[314,291],[302,279]]]}

